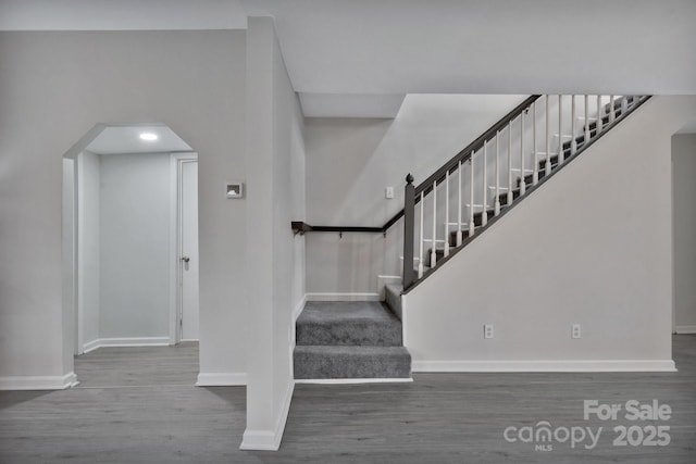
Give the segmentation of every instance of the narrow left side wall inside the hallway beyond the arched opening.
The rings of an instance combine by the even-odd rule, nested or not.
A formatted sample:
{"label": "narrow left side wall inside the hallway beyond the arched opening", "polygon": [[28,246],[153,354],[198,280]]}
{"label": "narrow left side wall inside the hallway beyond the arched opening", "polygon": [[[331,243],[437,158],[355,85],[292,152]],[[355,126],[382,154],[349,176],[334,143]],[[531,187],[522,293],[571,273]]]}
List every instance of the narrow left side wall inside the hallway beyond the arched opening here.
{"label": "narrow left side wall inside the hallway beyond the arched opening", "polygon": [[[83,349],[99,339],[101,304],[101,160],[83,151],[77,158],[78,285],[77,301],[82,319]],[[79,350],[82,353],[83,350]]]}

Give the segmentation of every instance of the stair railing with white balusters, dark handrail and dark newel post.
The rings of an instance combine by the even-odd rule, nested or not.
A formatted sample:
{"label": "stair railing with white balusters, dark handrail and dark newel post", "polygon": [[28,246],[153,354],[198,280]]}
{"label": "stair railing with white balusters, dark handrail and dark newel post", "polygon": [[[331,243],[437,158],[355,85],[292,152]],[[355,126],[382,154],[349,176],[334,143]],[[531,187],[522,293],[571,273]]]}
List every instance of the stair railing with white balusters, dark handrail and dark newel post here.
{"label": "stair railing with white balusters, dark handrail and dark newel post", "polygon": [[[464,237],[471,238],[477,233],[477,227],[485,227],[489,214],[499,216],[532,191],[544,177],[570,161],[595,138],[611,128],[614,122],[647,99],[644,96],[584,95],[580,96],[583,100],[579,109],[577,97],[546,95],[529,98],[423,184],[414,186],[408,183],[406,198],[412,199],[413,204],[405,206],[412,209],[410,215],[405,215],[411,217],[411,224],[405,221],[405,240],[411,240],[415,244],[410,250],[411,253],[417,250],[418,254],[409,256],[405,246],[403,265],[412,266],[418,263],[418,268],[415,273],[412,267],[411,272],[403,273],[405,287],[412,284],[406,281],[407,275],[422,278],[426,267],[436,267],[442,261],[439,258],[447,258],[465,244]],[[537,102],[540,99],[544,101],[539,102],[539,112]],[[566,104],[568,100],[570,104]],[[538,150],[537,145],[539,125],[545,139],[543,151]],[[554,130],[558,128],[558,134],[551,134],[551,127]],[[558,143],[551,143],[554,137],[558,139]],[[495,176],[493,183],[488,178],[489,168]],[[504,168],[507,173],[505,187],[500,185]],[[453,175],[457,176],[457,181],[450,183]],[[408,189],[411,189],[410,195]],[[480,202],[475,198],[477,191],[481,192]],[[489,191],[493,198],[488,195]],[[444,199],[440,197],[442,200],[438,201],[438,195],[444,196]],[[465,197],[469,198],[468,203],[464,203]],[[501,197],[506,200],[505,204],[500,201]],[[417,203],[420,203],[418,224],[412,224]],[[426,211],[431,208],[432,211]],[[456,210],[452,212],[450,208]],[[456,217],[456,221],[451,222],[450,217]],[[426,229],[430,230],[430,237],[424,236]],[[426,249],[425,243],[430,249]]]}

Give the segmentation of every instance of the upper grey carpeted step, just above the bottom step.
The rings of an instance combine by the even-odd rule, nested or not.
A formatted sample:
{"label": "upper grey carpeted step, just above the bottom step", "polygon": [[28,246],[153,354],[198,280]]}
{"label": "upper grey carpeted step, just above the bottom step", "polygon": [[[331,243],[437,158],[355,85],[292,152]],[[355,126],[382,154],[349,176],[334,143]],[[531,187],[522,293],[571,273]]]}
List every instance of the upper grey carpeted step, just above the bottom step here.
{"label": "upper grey carpeted step, just above the bottom step", "polygon": [[401,346],[401,323],[378,301],[309,301],[297,318],[298,346]]}

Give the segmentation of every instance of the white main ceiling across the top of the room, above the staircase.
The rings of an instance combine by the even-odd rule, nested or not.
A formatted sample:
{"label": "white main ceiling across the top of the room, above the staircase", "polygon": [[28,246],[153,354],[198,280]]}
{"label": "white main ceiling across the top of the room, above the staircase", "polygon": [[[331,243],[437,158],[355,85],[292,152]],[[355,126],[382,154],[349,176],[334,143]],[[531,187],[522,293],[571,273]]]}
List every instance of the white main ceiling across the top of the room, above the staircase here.
{"label": "white main ceiling across the top of the room, above the staircase", "polygon": [[306,115],[407,93],[696,95],[695,0],[0,0],[0,29],[245,28],[271,15]]}

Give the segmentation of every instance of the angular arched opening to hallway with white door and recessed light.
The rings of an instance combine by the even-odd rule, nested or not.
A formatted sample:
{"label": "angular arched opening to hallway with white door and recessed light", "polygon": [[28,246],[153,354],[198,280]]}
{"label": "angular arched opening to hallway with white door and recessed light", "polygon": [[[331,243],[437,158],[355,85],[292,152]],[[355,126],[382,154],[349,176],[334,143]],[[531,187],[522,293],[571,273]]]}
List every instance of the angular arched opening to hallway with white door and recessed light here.
{"label": "angular arched opening to hallway with white door and recessed light", "polygon": [[76,355],[188,341],[198,359],[198,156],[166,125],[99,124],[65,153],[63,294]]}

